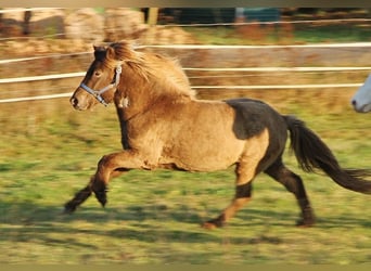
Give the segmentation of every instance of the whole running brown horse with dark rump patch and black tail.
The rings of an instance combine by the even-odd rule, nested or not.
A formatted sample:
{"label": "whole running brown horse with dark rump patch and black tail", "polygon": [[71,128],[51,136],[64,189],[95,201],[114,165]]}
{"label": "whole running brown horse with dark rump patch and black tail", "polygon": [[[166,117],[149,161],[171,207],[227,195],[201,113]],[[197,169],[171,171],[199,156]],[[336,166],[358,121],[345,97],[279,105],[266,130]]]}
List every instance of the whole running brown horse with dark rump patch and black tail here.
{"label": "whole running brown horse with dark rump patch and black tail", "polygon": [[265,172],[294,194],[298,227],[316,222],[302,178],[282,160],[291,140],[299,166],[318,169],[341,186],[371,194],[367,169],[343,169],[325,143],[304,121],[281,115],[263,101],[197,100],[179,62],[138,51],[127,41],[94,47],[94,60],[71,98],[75,109],[114,103],[123,150],[104,155],[90,182],[65,204],[71,214],[92,193],[104,207],[112,178],[130,169],[214,171],[235,167],[235,194],[206,229],[225,225],[252,198],[254,178]]}

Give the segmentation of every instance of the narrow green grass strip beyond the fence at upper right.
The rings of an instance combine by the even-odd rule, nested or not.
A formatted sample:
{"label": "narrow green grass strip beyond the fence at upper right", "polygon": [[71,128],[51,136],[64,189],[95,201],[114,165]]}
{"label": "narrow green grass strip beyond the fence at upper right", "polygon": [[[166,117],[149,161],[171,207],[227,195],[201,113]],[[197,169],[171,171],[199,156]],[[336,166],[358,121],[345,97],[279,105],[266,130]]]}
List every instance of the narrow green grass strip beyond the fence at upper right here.
{"label": "narrow green grass strip beyond the fence at upper right", "polygon": [[[286,28],[285,28],[286,27]],[[208,44],[292,44],[317,42],[370,41],[369,26],[357,25],[280,25],[242,27],[189,27],[201,43]]]}

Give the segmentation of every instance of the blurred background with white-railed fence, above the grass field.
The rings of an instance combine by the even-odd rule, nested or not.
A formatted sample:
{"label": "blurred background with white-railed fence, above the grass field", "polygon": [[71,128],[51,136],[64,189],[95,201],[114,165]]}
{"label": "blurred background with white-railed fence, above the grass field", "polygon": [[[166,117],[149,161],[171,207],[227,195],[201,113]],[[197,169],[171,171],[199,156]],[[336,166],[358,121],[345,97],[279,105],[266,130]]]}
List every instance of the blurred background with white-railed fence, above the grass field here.
{"label": "blurred background with white-railed fence, above the grass field", "polygon": [[201,98],[272,98],[271,90],[290,90],[290,98],[327,93],[332,99],[325,105],[343,109],[369,73],[369,12],[2,9],[0,99],[67,95],[92,60],[92,44],[129,39],[143,50],[179,59]]}

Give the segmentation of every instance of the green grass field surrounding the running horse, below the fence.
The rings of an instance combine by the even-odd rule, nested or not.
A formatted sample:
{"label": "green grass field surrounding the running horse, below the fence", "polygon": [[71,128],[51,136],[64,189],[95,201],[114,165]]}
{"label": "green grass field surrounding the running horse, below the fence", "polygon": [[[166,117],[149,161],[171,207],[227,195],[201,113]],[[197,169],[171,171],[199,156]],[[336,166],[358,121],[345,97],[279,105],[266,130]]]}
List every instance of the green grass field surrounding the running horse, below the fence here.
{"label": "green grass field surrounding the running horse, below the fence", "polygon": [[[370,167],[369,115],[287,106],[323,138],[342,165]],[[133,170],[112,181],[106,208],[90,197],[74,215],[62,215],[64,203],[86,185],[99,158],[120,147],[119,131],[113,107],[75,112],[55,102],[49,108],[33,118],[22,104],[0,108],[1,126],[7,127],[0,134],[0,262],[371,261],[370,197],[324,176],[303,173],[289,154],[286,164],[305,179],[318,217],[311,229],[294,227],[294,197],[263,175],[251,204],[227,227],[202,229],[203,221],[229,204],[232,168],[212,173]]]}

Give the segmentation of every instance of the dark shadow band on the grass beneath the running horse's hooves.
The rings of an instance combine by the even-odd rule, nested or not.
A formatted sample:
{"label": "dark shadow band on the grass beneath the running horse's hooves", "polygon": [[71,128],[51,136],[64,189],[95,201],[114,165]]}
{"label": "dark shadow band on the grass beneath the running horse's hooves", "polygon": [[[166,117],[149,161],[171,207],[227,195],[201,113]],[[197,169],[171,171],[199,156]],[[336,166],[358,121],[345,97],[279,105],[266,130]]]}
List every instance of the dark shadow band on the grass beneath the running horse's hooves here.
{"label": "dark shadow band on the grass beneath the running horse's hooves", "polygon": [[[93,235],[141,242],[220,243],[222,234],[201,229],[203,218],[187,206],[167,208],[162,205],[128,206],[123,209],[81,207],[74,215],[63,215],[61,207],[39,206],[33,203],[0,203],[0,242],[33,242],[49,246],[98,248],[98,244],[85,241]],[[216,212],[217,214],[217,212]],[[296,217],[279,210],[250,209],[241,211],[228,227],[246,230],[260,229],[256,236],[231,237],[235,244],[283,242],[279,237],[261,235],[265,227],[294,228]],[[114,227],[111,222],[114,221]],[[123,227],[118,225],[123,224]],[[158,222],[157,222],[158,221]],[[167,221],[169,222],[167,224]],[[176,224],[174,224],[176,222]],[[179,223],[191,223],[194,228],[179,228]],[[371,222],[362,217],[330,217],[318,219],[316,229],[369,229]],[[222,229],[221,229],[222,231]],[[56,234],[56,235],[55,235]],[[75,234],[86,238],[75,238]]]}

